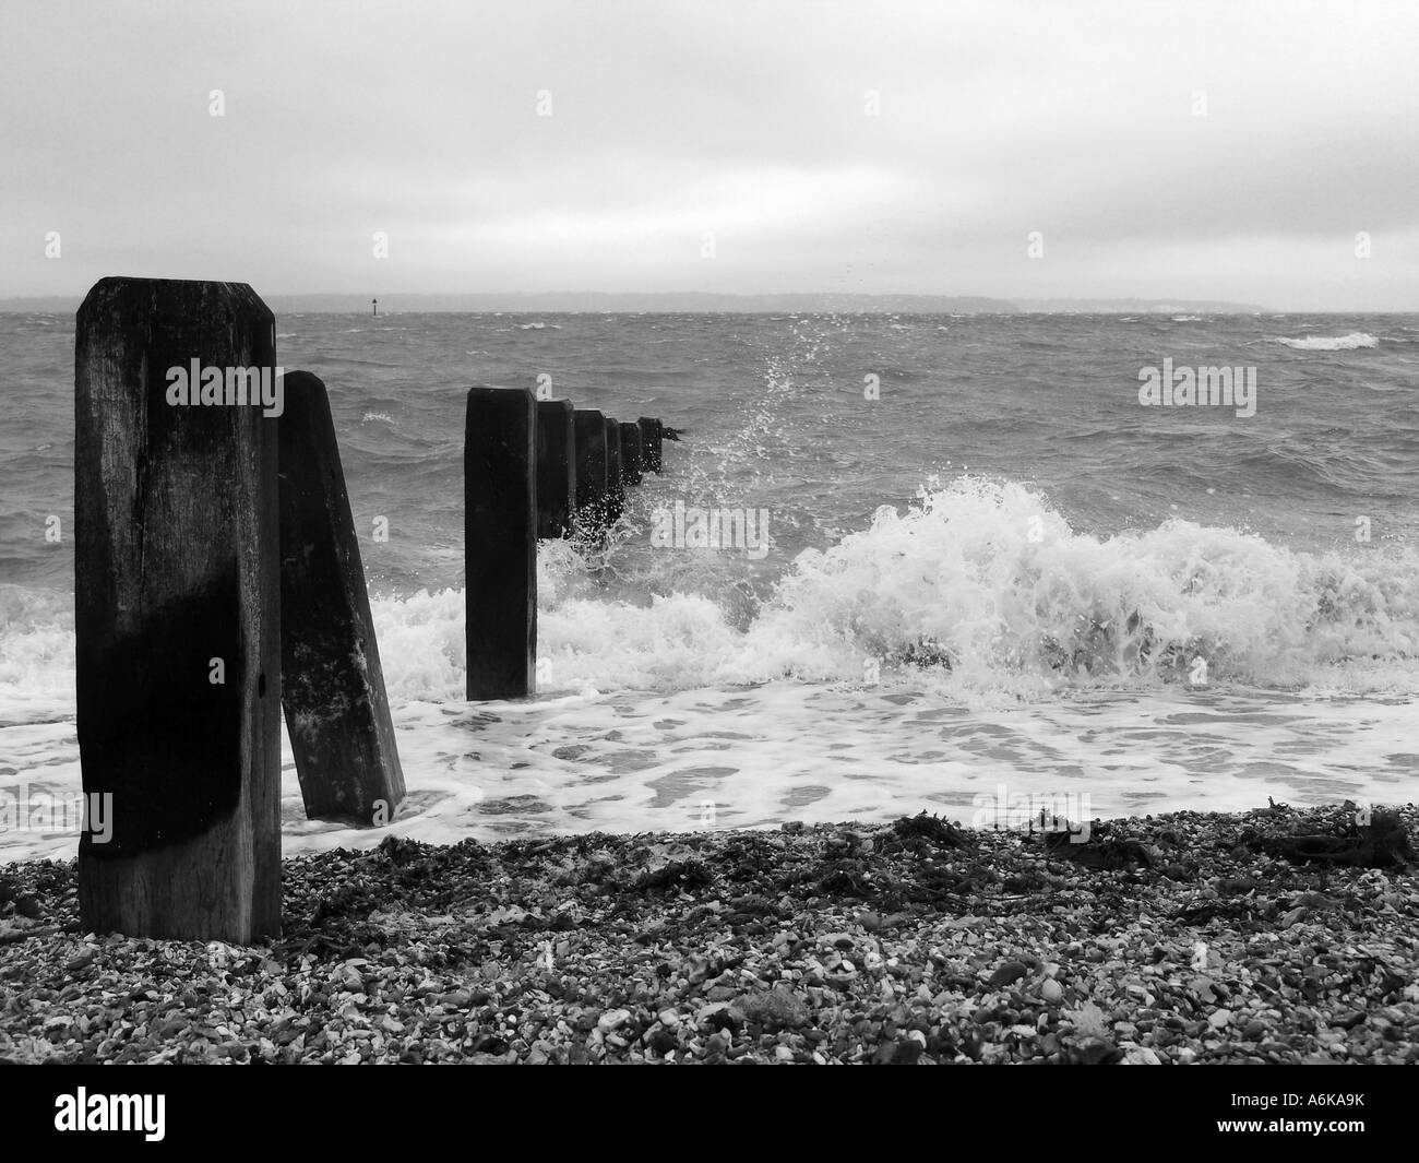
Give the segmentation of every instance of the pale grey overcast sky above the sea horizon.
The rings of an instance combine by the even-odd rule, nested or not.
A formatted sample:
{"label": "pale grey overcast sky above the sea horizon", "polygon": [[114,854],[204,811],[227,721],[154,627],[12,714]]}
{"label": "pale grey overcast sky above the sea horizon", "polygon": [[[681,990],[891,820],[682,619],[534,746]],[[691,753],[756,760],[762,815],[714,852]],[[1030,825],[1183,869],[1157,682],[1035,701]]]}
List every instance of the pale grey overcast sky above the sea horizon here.
{"label": "pale grey overcast sky above the sea horizon", "polygon": [[10,0],[0,111],[0,295],[1419,310],[1408,1]]}

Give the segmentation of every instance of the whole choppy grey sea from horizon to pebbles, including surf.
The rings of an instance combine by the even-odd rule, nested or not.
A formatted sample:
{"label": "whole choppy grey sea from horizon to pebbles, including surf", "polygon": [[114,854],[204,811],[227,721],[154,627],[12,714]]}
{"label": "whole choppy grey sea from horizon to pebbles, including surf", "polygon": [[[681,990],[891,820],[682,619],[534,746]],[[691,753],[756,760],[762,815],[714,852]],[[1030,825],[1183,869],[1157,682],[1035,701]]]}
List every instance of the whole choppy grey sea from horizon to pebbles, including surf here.
{"label": "whole choppy grey sea from horizon to pebbles, including surf", "polygon": [[[288,855],[1415,798],[1416,315],[282,314],[277,351],[329,389],[409,787],[309,821],[282,740]],[[0,861],[78,846],[72,366],[72,315],[0,314]],[[1223,366],[1244,403],[1141,402]],[[464,697],[474,385],[680,433],[542,542],[525,700]]]}

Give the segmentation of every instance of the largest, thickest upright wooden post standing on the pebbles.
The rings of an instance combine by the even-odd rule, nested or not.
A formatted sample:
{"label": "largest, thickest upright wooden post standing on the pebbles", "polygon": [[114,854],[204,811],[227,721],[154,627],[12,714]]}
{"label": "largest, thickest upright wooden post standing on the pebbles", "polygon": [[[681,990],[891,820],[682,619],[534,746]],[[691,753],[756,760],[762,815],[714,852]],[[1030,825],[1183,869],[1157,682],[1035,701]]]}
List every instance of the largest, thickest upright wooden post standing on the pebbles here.
{"label": "largest, thickest upright wooden post standing on the pebbles", "polygon": [[82,926],[277,936],[275,320],[240,283],[104,278],[74,388]]}

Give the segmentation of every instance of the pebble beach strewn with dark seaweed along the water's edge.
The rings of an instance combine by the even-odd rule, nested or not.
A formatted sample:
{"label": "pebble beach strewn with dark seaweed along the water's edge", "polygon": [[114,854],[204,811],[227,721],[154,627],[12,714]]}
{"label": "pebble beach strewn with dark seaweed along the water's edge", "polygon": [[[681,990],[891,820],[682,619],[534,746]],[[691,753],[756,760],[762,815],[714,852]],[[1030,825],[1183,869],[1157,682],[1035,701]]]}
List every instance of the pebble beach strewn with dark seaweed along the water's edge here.
{"label": "pebble beach strewn with dark seaweed along the water's edge", "polygon": [[287,859],[251,947],[82,933],[75,862],[7,865],[0,1059],[1416,1062],[1419,808],[1391,812],[1354,863],[1354,805],[1083,843],[925,814],[389,838]]}

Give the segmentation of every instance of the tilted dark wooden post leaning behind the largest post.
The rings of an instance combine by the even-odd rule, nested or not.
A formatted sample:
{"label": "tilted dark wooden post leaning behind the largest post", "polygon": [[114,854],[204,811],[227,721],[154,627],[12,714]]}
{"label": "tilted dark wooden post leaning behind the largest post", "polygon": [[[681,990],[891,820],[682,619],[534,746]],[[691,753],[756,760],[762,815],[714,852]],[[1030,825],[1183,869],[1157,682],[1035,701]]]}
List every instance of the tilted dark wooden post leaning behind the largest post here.
{"label": "tilted dark wooden post leaning behind the largest post", "polygon": [[365,568],[325,385],[285,376],[281,706],[305,814],[382,826],[404,798]]}

